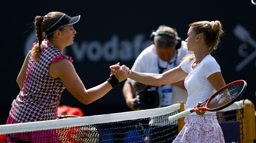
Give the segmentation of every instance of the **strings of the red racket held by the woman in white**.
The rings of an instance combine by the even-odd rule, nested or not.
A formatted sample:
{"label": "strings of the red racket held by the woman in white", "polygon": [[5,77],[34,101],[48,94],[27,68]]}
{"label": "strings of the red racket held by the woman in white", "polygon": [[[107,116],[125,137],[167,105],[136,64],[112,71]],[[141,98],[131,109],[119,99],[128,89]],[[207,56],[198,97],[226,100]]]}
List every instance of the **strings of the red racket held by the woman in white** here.
{"label": "strings of the red racket held by the woman in white", "polygon": [[233,101],[243,90],[244,82],[230,85],[220,90],[216,96],[207,102],[208,109],[216,109]]}

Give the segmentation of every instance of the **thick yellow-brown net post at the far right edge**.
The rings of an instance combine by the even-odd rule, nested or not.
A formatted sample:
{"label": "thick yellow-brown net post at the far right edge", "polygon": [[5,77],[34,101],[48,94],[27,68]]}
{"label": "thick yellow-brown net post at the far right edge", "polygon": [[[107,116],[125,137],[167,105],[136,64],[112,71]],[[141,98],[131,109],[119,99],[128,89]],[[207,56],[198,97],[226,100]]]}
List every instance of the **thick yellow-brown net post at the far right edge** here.
{"label": "thick yellow-brown net post at the far right edge", "polygon": [[255,131],[255,108],[254,104],[248,100],[244,100],[244,118],[243,118],[243,133],[244,138],[242,141],[244,143],[253,143],[253,140],[256,139]]}

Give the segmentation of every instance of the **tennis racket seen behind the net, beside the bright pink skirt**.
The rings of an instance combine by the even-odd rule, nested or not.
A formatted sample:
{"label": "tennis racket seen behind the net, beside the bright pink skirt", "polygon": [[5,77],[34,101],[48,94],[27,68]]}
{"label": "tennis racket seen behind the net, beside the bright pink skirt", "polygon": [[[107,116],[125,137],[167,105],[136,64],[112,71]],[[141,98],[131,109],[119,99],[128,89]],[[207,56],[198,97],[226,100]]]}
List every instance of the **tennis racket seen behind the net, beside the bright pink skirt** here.
{"label": "tennis racket seen behind the net, beside the bright pink skirt", "polygon": [[[57,116],[57,119],[66,119],[79,117],[75,115],[62,115]],[[94,124],[76,126],[76,127],[64,127],[56,129],[58,138],[62,143],[99,143],[100,142],[100,130]]]}

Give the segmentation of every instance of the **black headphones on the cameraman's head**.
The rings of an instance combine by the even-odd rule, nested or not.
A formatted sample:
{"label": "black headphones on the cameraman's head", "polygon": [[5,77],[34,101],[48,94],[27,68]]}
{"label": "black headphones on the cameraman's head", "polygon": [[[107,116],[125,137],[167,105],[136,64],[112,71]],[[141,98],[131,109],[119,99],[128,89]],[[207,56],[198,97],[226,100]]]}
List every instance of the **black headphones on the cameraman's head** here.
{"label": "black headphones on the cameraman's head", "polygon": [[[150,34],[150,40],[154,41],[155,35],[159,35],[159,36],[166,36],[166,37],[170,37],[172,39],[176,38],[176,34],[171,33],[169,31],[165,31],[165,30],[152,30],[152,33]],[[181,38],[178,37],[177,38],[178,43],[176,44],[175,49],[179,49],[181,47]]]}

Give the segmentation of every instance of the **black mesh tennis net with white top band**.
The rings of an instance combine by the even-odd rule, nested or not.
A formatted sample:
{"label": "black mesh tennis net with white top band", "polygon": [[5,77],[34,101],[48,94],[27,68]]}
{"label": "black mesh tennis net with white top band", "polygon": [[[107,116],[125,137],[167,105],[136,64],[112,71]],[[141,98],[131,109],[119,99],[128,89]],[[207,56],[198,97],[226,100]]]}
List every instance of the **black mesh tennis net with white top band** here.
{"label": "black mesh tennis net with white top band", "polygon": [[[156,109],[0,125],[0,143],[7,142],[8,136],[22,143],[167,143],[184,126],[184,119],[169,122],[168,117],[185,106],[180,102]],[[219,123],[240,121],[243,138],[243,101],[218,111],[217,119]]]}

